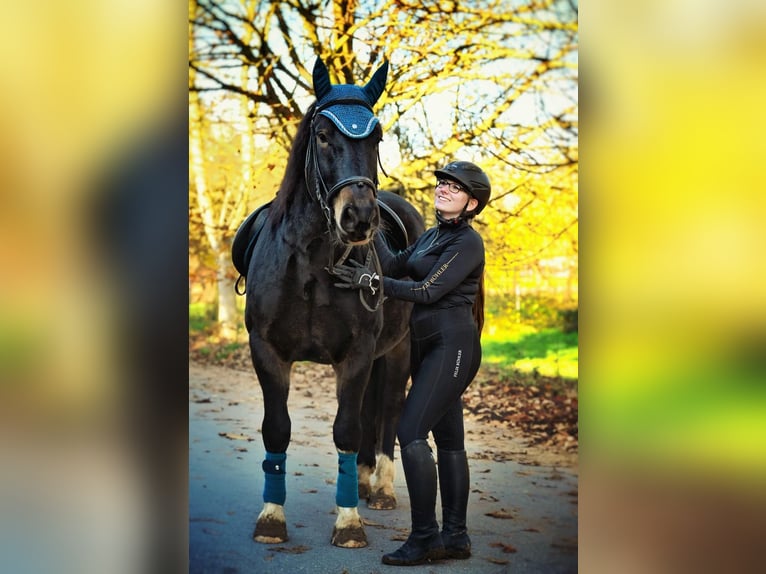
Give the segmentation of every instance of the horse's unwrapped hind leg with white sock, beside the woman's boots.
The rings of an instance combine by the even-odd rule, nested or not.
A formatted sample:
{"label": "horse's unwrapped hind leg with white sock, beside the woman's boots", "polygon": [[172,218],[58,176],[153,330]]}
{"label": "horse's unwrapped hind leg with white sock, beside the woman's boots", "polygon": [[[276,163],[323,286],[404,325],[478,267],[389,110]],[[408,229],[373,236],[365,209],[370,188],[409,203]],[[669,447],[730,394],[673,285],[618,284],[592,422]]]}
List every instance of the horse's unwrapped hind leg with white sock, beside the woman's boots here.
{"label": "horse's unwrapped hind leg with white sock, beside the woman's boots", "polygon": [[394,444],[396,426],[404,405],[404,391],[410,376],[410,338],[405,336],[385,356],[386,377],[381,381],[382,392],[378,401],[379,421],[376,449],[375,476],[367,502],[369,508],[390,510],[396,508],[394,492]]}

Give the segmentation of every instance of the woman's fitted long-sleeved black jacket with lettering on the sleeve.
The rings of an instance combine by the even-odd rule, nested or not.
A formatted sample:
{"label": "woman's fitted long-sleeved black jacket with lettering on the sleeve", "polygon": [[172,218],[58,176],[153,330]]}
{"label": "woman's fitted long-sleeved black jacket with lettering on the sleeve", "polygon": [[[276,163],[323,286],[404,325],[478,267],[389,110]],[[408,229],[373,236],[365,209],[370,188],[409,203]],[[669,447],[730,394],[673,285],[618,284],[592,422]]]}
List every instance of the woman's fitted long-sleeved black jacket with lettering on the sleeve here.
{"label": "woman's fitted long-sleeved black jacket with lettering on the sleeve", "polygon": [[473,305],[484,270],[484,242],[467,222],[441,222],[396,254],[379,234],[375,247],[387,297],[435,309]]}

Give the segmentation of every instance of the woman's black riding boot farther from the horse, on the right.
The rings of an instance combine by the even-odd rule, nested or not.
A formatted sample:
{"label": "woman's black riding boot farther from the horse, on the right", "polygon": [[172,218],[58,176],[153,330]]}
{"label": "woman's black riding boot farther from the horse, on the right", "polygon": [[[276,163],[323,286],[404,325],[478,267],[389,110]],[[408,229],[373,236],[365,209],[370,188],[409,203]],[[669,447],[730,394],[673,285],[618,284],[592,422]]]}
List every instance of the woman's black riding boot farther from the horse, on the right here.
{"label": "woman's black riding boot farther from the horse, on the right", "polygon": [[438,451],[439,491],[442,498],[442,542],[448,558],[471,556],[471,539],[465,527],[468,510],[468,458],[464,450]]}

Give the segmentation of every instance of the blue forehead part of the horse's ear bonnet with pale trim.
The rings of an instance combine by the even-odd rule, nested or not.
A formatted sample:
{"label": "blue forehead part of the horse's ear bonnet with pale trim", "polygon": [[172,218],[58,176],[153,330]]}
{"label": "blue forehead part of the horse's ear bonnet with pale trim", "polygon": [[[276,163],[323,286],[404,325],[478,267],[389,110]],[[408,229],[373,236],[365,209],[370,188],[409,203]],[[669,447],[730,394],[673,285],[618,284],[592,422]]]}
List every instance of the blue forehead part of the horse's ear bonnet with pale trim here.
{"label": "blue forehead part of the horse's ear bonnet with pale trim", "polygon": [[317,102],[317,113],[331,119],[344,135],[361,139],[369,136],[378,123],[372,113],[374,103],[363,88],[338,84]]}

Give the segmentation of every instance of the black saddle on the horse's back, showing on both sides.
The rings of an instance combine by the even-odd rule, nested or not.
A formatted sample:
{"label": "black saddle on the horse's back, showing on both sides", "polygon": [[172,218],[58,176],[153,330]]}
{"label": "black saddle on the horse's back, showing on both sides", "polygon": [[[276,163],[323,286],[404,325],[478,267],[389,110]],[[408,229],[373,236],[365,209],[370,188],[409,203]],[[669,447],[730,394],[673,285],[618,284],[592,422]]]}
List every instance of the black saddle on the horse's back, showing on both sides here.
{"label": "black saddle on the horse's back, showing on both sides", "polygon": [[[247,279],[250,258],[253,256],[253,249],[268,218],[270,206],[271,202],[269,201],[253,211],[245,218],[234,234],[234,241],[231,244],[231,261],[234,268],[239,272],[239,278],[234,284],[234,290],[238,295],[245,294],[244,290],[240,292],[240,281]],[[378,206],[382,219],[380,229],[386,244],[392,251],[401,251],[409,244],[404,223],[396,212],[384,202],[378,200]]]}

